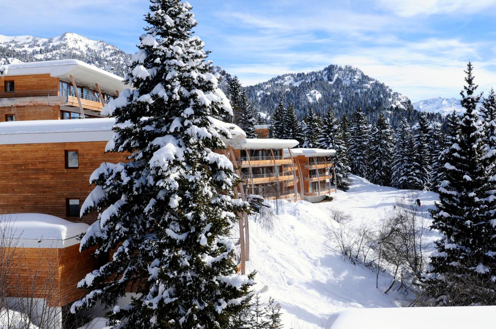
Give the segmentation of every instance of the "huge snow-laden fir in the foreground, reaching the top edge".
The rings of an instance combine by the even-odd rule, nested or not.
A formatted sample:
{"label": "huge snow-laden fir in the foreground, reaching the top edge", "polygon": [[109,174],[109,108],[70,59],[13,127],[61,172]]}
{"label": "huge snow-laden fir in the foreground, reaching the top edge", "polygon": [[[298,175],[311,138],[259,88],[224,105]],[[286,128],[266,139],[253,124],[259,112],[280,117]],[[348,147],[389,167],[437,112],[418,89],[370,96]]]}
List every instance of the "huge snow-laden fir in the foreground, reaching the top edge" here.
{"label": "huge snow-laden fir in the foreground, reaching the top edge", "polygon": [[[129,162],[104,163],[81,215],[98,211],[81,249],[110,252],[109,262],[78,286],[88,294],[71,311],[110,307],[118,328],[232,328],[247,307],[254,274],[236,274],[228,238],[248,208],[235,202],[238,179],[224,156],[224,128],[210,115],[232,115],[203,51],[196,20],[180,0],[152,0],[146,33],[121,93],[102,111],[116,118],[109,152]],[[128,305],[118,300],[128,289]]]}

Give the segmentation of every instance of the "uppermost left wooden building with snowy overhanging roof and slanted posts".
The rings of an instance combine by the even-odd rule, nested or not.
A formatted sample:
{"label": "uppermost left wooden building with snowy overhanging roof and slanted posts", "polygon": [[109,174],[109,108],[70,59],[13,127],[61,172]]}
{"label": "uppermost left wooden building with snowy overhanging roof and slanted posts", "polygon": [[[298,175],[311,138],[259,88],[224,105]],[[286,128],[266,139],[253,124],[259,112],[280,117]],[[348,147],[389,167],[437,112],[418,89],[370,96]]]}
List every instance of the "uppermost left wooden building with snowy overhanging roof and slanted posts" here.
{"label": "uppermost left wooden building with snowy overhanging roof and slanted posts", "polygon": [[0,122],[101,117],[123,79],[75,59],[0,65]]}

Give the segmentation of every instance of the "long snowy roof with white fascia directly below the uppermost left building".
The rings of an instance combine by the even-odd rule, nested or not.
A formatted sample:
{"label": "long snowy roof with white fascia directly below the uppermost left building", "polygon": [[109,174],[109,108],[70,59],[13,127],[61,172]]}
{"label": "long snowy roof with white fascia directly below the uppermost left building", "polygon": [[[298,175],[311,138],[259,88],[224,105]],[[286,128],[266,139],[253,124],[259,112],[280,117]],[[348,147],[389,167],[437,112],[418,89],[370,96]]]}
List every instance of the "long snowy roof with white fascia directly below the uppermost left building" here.
{"label": "long snowy roof with white fascia directly below the uppermost left building", "polygon": [[115,118],[0,122],[0,145],[109,141],[115,124]]}

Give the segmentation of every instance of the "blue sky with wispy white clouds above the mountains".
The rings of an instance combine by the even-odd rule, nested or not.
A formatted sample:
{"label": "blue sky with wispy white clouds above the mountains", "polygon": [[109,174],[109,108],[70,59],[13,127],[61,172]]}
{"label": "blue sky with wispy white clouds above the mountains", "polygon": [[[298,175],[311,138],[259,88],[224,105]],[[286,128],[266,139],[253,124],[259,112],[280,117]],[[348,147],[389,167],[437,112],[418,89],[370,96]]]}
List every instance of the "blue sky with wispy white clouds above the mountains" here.
{"label": "blue sky with wispy white clouds above the mountains", "polygon": [[[245,85],[348,64],[415,102],[458,97],[472,60],[481,91],[496,88],[496,0],[189,2],[210,58]],[[147,9],[146,0],[8,1],[0,34],[70,31],[132,53]]]}

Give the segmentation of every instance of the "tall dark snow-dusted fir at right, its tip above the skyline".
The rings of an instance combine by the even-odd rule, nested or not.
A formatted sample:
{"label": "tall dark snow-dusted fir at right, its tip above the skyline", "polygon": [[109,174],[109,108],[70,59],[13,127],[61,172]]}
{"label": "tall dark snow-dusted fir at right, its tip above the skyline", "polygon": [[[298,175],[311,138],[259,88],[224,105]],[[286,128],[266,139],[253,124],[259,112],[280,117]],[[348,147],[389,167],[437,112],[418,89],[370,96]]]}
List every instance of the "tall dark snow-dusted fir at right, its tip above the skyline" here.
{"label": "tall dark snow-dusted fir at right, its tip above the skyline", "polygon": [[493,226],[495,153],[484,140],[476,112],[472,63],[460,93],[465,108],[459,134],[445,155],[439,203],[431,211],[432,228],[442,234],[425,275],[426,290],[436,305],[493,305],[496,302],[496,229]]}

